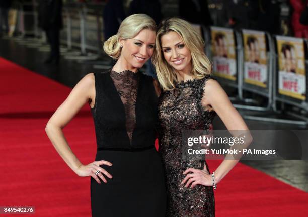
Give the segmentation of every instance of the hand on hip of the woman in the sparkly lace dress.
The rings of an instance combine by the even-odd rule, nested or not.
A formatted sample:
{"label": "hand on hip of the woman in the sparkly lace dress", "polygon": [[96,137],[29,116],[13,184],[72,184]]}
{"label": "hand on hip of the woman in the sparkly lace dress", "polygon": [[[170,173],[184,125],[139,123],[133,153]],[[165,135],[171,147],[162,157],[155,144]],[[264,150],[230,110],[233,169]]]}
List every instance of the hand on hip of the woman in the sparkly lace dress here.
{"label": "hand on hip of the woman in the sparkly lace dress", "polygon": [[185,170],[183,174],[184,175],[187,174],[186,177],[181,182],[181,184],[185,184],[185,182],[187,182],[185,187],[188,187],[190,184],[191,184],[190,188],[193,188],[197,184],[201,184],[204,186],[213,185],[212,177],[209,174],[209,172],[205,169],[199,170],[194,168],[188,168],[187,170]]}

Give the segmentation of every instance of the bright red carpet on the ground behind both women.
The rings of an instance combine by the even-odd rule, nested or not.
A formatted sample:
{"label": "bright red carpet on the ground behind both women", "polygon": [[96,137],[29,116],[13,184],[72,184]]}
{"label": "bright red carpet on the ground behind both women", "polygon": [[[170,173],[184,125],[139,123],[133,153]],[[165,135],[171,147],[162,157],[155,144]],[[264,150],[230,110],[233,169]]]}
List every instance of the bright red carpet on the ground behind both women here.
{"label": "bright red carpet on the ground behind both women", "polygon": [[[0,206],[34,206],[34,216],[91,216],[90,177],[73,173],[45,133],[48,119],[69,92],[70,88],[0,58]],[[64,133],[82,163],[94,161],[89,105]],[[211,170],[218,163],[208,162]],[[215,201],[218,217],[308,213],[307,193],[241,163],[218,184]]]}

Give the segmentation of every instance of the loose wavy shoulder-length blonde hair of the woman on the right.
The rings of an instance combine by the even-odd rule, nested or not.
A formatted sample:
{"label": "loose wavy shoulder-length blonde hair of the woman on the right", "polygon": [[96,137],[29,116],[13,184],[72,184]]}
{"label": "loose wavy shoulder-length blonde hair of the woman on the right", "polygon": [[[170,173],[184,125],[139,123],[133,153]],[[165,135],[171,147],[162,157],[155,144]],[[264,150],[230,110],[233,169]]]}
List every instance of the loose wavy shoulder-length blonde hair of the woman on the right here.
{"label": "loose wavy shoulder-length blonde hair of the woman on the right", "polygon": [[162,21],[156,35],[155,51],[152,62],[155,66],[158,80],[163,90],[171,90],[178,83],[176,71],[164,58],[162,36],[174,31],[180,35],[192,57],[192,74],[195,79],[202,79],[211,73],[212,64],[204,53],[204,41],[190,23],[180,18],[170,18]]}

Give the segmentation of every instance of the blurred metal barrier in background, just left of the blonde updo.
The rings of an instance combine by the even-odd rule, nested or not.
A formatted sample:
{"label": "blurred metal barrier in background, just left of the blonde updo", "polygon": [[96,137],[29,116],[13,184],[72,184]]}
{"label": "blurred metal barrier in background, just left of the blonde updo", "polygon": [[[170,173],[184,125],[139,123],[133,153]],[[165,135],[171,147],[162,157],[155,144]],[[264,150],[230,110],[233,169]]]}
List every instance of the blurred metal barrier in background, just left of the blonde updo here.
{"label": "blurred metal barrier in background, just left of the blonde updo", "polygon": [[[80,48],[79,53],[68,52],[66,59],[96,60],[102,55],[102,11],[105,4],[67,4],[63,7],[65,32],[61,33],[61,42]],[[90,55],[95,53],[96,55]]]}

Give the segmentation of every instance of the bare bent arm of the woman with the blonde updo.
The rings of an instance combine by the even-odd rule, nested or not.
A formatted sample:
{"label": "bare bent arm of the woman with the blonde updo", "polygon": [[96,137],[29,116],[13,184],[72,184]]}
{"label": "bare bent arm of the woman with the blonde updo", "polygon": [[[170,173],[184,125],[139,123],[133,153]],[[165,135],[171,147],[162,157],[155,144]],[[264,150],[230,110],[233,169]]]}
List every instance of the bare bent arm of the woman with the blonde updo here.
{"label": "bare bent arm of the woman with the blonde updo", "polygon": [[[62,131],[62,129],[81,110],[81,108],[85,103],[89,101],[89,99],[92,102],[91,104],[94,105],[95,80],[93,73],[87,74],[78,82],[78,84],[76,84],[65,101],[51,116],[45,130],[56,151],[76,174],[80,176],[91,175],[93,178],[98,180],[97,176],[94,175],[94,173],[92,174],[92,172],[93,170],[100,170],[99,164],[105,164],[107,161],[104,163],[94,162],[94,164],[91,164],[91,167],[88,166],[87,168],[81,170],[81,167],[84,165],[79,161],[79,159],[70,149]],[[110,162],[108,163],[111,164]],[[105,172],[103,169],[100,171]]]}

